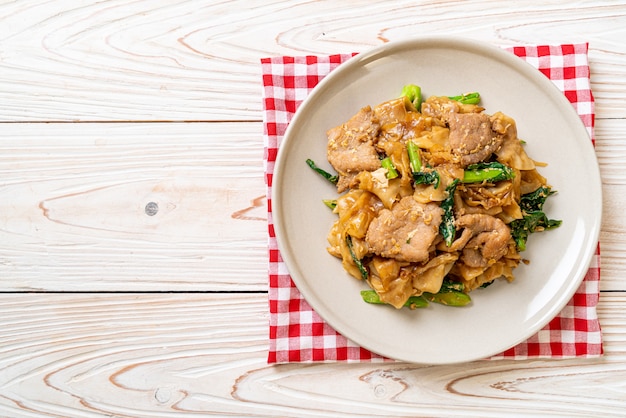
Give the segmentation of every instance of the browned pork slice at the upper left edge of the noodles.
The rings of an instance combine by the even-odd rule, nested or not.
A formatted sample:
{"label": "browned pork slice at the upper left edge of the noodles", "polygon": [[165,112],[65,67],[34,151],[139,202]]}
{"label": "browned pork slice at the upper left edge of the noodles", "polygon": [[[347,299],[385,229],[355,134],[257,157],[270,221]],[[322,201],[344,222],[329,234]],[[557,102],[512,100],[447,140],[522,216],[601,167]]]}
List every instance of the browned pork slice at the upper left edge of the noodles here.
{"label": "browned pork slice at the upper left edge of the noodles", "polygon": [[[379,129],[372,109],[366,106],[346,123],[326,133],[328,161],[340,177],[380,168],[380,159],[374,148]],[[346,183],[349,182],[340,180],[340,184]]]}

